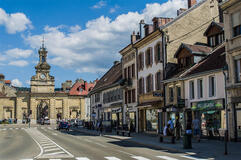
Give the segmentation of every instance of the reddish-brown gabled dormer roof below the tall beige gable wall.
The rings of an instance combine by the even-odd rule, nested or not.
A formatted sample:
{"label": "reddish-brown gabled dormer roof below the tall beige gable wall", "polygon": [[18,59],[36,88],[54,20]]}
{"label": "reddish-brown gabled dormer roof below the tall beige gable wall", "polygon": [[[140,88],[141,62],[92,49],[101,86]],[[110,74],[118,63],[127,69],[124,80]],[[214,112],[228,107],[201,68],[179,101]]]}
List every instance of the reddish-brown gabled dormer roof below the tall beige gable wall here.
{"label": "reddish-brown gabled dormer roof below the tall beige gable wall", "polygon": [[212,51],[212,48],[208,46],[196,45],[196,44],[191,45],[191,44],[182,43],[177,49],[176,53],[174,54],[174,58],[177,58],[178,54],[183,48],[186,48],[188,51],[190,51],[191,54],[199,54],[199,55],[208,55]]}

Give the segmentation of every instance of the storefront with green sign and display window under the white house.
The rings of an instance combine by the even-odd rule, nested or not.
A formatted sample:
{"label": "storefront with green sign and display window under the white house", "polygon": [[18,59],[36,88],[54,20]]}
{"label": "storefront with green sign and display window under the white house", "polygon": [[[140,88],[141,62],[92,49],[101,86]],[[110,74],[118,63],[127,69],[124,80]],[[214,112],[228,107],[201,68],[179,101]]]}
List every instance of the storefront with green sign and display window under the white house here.
{"label": "storefront with green sign and display window under the white house", "polygon": [[192,119],[200,120],[202,137],[224,137],[224,99],[191,103]]}

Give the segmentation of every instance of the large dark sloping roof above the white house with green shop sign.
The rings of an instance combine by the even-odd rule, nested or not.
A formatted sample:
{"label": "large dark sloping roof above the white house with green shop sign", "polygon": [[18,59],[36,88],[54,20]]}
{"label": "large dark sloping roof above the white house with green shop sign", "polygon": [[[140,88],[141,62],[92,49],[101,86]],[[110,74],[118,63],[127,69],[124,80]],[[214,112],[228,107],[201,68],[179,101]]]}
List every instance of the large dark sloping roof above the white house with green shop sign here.
{"label": "large dark sloping roof above the white house with green shop sign", "polygon": [[225,44],[218,46],[211,54],[190,68],[182,77],[191,76],[201,72],[222,69],[226,65]]}

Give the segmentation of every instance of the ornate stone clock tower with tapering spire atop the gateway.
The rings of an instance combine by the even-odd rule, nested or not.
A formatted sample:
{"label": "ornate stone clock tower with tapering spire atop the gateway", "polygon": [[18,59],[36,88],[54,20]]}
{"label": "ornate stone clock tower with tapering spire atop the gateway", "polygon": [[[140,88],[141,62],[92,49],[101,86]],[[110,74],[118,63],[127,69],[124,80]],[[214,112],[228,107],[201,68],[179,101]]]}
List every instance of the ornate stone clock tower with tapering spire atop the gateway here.
{"label": "ornate stone clock tower with tapering spire atop the gateway", "polygon": [[47,49],[42,46],[38,50],[39,62],[35,66],[36,75],[31,78],[32,93],[53,93],[54,92],[54,77],[49,74],[50,65],[47,63]]}

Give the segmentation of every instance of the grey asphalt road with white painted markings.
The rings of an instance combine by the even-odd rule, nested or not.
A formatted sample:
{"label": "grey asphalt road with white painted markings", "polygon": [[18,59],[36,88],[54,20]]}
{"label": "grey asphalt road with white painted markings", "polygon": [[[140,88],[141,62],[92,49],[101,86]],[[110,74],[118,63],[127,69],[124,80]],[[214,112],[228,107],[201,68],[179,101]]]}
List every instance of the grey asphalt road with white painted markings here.
{"label": "grey asphalt road with white painted markings", "polygon": [[0,160],[196,160],[189,155],[55,126],[0,126]]}

